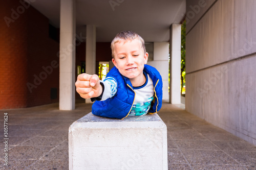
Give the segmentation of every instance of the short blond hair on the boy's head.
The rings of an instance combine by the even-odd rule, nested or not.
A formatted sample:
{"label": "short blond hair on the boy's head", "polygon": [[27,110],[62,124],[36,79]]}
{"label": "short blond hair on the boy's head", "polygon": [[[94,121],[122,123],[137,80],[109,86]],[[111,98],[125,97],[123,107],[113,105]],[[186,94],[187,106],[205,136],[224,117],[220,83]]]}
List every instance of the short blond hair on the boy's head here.
{"label": "short blond hair on the boy's head", "polygon": [[122,31],[122,32],[118,33],[111,42],[112,57],[114,58],[115,43],[122,41],[122,40],[124,40],[124,41],[131,40],[132,41],[134,39],[139,40],[139,42],[141,43],[141,48],[142,48],[143,54],[145,54],[146,47],[145,47],[145,42],[144,42],[143,38],[135,32]]}

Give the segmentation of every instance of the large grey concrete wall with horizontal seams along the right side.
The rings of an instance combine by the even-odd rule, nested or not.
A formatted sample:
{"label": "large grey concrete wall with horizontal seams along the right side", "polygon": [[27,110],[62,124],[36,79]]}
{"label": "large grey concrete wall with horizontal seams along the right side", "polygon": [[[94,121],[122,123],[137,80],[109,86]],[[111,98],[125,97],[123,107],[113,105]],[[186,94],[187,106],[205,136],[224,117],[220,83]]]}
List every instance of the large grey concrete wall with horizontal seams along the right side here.
{"label": "large grey concrete wall with horizontal seams along the right side", "polygon": [[186,110],[256,144],[256,2],[186,3]]}

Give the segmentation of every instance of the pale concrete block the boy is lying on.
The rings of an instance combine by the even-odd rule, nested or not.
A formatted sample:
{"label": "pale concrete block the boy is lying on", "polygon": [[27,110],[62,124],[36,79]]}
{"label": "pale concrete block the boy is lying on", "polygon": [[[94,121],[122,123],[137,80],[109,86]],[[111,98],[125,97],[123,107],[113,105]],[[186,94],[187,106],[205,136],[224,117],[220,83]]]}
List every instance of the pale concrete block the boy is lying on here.
{"label": "pale concrete block the boy is lying on", "polygon": [[158,114],[122,120],[83,116],[69,128],[69,169],[167,169],[167,128]]}

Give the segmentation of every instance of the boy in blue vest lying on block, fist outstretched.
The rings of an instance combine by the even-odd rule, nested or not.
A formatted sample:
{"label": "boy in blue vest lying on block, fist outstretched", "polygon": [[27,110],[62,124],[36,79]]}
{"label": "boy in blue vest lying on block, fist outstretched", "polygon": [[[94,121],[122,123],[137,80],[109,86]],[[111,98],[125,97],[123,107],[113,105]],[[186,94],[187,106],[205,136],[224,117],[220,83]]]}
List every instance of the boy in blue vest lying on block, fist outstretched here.
{"label": "boy in blue vest lying on block, fist outstretched", "polygon": [[154,67],[146,65],[144,40],[123,31],[113,39],[111,48],[115,67],[106,79],[78,75],[76,91],[84,99],[96,100],[92,113],[98,116],[123,119],[157,113],[162,106],[162,78]]}

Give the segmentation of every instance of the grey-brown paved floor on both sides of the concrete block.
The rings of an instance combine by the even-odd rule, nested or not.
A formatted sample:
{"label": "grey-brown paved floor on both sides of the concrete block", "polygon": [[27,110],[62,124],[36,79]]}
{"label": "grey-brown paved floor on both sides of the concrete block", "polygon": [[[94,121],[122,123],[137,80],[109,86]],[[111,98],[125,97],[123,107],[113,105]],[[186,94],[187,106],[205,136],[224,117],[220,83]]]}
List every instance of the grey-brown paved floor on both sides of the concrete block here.
{"label": "grey-brown paved floor on both sides of the concrete block", "polygon": [[[0,111],[0,169],[68,169],[69,126],[91,105],[78,103],[74,111],[60,111],[58,104]],[[5,112],[9,167],[3,157]],[[163,104],[159,115],[168,128],[169,169],[256,169],[256,146],[184,111],[184,105]]]}

